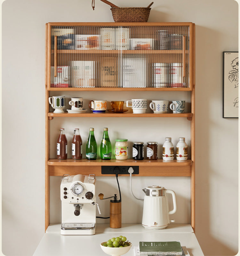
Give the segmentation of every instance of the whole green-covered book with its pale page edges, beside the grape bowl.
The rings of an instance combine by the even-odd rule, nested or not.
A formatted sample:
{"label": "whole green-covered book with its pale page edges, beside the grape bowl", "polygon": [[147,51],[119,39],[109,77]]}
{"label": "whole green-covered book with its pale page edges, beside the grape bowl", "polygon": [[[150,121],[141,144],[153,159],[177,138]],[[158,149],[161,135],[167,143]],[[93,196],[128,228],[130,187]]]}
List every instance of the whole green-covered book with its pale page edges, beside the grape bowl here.
{"label": "whole green-covered book with its pale page edges, beside the grape bowl", "polygon": [[139,242],[140,255],[182,255],[180,241]]}

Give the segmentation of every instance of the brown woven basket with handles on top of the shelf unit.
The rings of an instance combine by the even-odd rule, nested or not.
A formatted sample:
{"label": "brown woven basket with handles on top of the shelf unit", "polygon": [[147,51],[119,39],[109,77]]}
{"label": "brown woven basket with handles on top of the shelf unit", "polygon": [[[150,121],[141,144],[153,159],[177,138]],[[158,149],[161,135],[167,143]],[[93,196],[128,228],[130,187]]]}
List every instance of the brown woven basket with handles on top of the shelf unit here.
{"label": "brown woven basket with handles on top of the shelf unit", "polygon": [[112,7],[111,11],[115,22],[147,22],[150,6],[153,4],[152,2],[148,7],[117,7],[106,0],[101,1]]}

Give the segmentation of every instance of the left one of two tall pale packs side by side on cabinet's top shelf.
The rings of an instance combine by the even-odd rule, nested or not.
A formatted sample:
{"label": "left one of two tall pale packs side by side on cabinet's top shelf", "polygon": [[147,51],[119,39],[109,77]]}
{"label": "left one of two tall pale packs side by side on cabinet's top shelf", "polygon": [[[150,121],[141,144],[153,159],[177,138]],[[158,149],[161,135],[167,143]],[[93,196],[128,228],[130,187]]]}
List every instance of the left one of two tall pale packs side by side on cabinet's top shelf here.
{"label": "left one of two tall pale packs side by side on cabinet's top shelf", "polygon": [[100,28],[101,49],[115,50],[116,49],[116,29],[115,28]]}

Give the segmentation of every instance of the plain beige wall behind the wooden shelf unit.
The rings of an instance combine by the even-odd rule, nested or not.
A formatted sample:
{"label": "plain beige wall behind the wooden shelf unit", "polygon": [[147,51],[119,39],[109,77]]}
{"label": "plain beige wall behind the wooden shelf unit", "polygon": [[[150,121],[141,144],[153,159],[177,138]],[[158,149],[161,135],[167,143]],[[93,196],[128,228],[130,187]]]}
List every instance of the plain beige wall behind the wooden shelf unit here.
{"label": "plain beige wall behind the wooden shelf unit", "polygon": [[[2,248],[5,255],[32,255],[44,235],[45,23],[113,21],[108,5],[96,0],[92,11],[91,2],[6,0],[2,4]],[[146,0],[113,2],[119,6],[150,4]],[[222,52],[238,51],[238,5],[233,0],[156,0],[148,21],[196,24],[196,237],[204,255],[235,255],[238,251],[238,119],[222,118]],[[73,93],[65,95],[70,97]],[[83,93],[84,99],[92,99],[94,95]],[[110,92],[102,95],[108,100],[116,97]],[[132,92],[120,95],[124,100],[133,96]],[[142,95],[137,92],[134,97]],[[148,100],[153,97],[149,92]],[[159,92],[158,97],[171,100],[175,94]],[[188,93],[182,93],[181,97],[189,100]],[[118,127],[125,127],[121,135],[131,141],[157,138],[161,145],[165,136],[172,136],[176,144],[177,138],[184,135],[190,145],[187,120],[176,124],[171,118],[157,121],[149,118],[147,121],[152,126],[148,127],[142,124],[141,118],[134,122],[127,118],[107,119],[84,118],[83,124],[75,118],[54,118],[51,144],[55,143],[60,125],[66,127],[69,140],[78,125],[85,143],[88,129],[93,126],[98,141],[103,127],[109,128],[112,143],[119,134]],[[129,129],[132,127],[135,131]],[[142,204],[128,196],[129,179],[121,177],[119,183],[123,196],[122,221],[141,222],[141,214],[137,212],[142,210]],[[178,211],[173,218],[178,223],[188,223],[189,178],[134,177],[136,196],[142,197],[141,189],[155,183],[176,192]],[[59,185],[59,177],[51,177],[52,222],[61,220]],[[115,178],[98,178],[97,192],[109,195],[115,190]],[[136,210],[129,211],[129,203]],[[105,215],[107,207],[102,204]]]}

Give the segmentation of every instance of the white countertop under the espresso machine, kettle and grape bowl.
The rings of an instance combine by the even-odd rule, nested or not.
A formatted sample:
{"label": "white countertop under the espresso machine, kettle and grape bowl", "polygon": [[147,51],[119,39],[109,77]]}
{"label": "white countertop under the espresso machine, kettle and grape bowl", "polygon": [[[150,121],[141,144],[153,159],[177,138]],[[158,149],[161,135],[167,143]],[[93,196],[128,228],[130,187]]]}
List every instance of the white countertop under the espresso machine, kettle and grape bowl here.
{"label": "white countertop under the espresso machine, kettle and grape bowl", "polygon": [[61,224],[50,224],[38,245],[34,256],[106,256],[100,243],[116,236],[126,236],[132,248],[126,256],[134,256],[134,246],[140,241],[177,241],[186,246],[190,255],[204,255],[190,224],[169,224],[165,229],[151,230],[141,224],[122,224],[122,228],[110,228],[109,224],[97,224],[95,235],[61,235]]}

